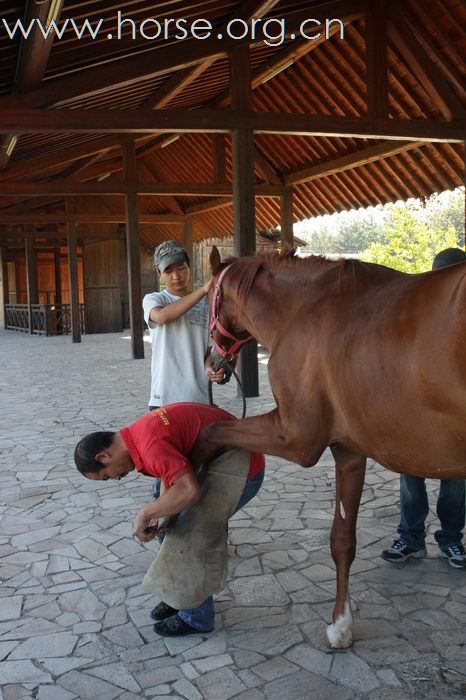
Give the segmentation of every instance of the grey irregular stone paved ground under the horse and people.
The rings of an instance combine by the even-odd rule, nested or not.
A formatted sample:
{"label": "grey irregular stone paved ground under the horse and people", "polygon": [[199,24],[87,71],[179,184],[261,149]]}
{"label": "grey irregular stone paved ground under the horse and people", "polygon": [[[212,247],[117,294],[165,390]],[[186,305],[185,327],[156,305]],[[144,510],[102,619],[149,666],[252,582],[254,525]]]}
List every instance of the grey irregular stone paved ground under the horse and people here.
{"label": "grey irregular stone paved ground under the horse and people", "polygon": [[[328,653],[333,468],[268,460],[259,496],[231,522],[231,577],[211,635],[162,639],[141,589],[156,545],[131,538],[148,479],[86,481],[72,451],[90,430],[145,410],[149,361],[125,336],[0,333],[0,682],[5,700],[401,700],[466,694],[466,577],[436,557],[379,553],[394,532],[398,479],[372,464],[353,565],[355,643]],[[265,364],[259,399],[273,401]],[[235,388],[215,389],[236,415]],[[430,483],[434,488],[434,482]]]}

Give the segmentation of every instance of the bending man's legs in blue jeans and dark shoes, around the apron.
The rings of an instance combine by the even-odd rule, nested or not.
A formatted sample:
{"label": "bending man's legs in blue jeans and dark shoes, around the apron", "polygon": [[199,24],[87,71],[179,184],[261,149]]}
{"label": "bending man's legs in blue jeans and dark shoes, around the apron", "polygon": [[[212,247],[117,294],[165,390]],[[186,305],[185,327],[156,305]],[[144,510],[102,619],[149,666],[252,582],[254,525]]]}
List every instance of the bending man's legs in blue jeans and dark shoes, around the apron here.
{"label": "bending man's legs in blue jeans and dark shoes, around the apron", "polygon": [[[246,503],[254,498],[256,493],[259,491],[264,481],[264,470],[256,474],[252,479],[248,479],[244,486],[241,498],[236,506],[235,513],[237,513]],[[214,600],[212,596],[209,596],[199,607],[191,608],[190,610],[179,610],[177,615],[169,617],[163,622],[154,625],[156,632],[160,634],[187,634],[190,632],[189,628],[186,629],[184,626],[180,628],[177,621],[174,618],[180,618],[189,627],[199,632],[212,632],[215,626],[215,609]],[[177,631],[179,630],[179,631]]]}

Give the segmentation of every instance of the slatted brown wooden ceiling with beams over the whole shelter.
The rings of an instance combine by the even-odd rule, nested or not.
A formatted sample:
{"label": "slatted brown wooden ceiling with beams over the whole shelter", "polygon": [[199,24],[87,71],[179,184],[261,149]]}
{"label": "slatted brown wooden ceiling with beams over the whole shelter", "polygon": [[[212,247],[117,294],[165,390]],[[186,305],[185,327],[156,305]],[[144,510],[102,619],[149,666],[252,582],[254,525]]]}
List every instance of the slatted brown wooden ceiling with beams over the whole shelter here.
{"label": "slatted brown wooden ceiling with beams over the whole shelter", "polygon": [[[45,23],[54,10],[58,26],[102,20],[105,31],[9,38],[5,22]],[[329,39],[251,41],[254,112],[239,114],[229,109],[229,52],[245,41],[133,40],[129,31],[110,40],[119,11],[136,27],[204,18],[215,37],[231,18],[282,18],[288,32],[339,18],[344,37],[334,23]],[[124,221],[122,145],[133,138],[142,243],[181,238],[186,215],[195,240],[228,235],[233,125],[255,130],[257,229],[280,222],[285,189],[297,221],[456,187],[465,57],[464,0],[2,0],[0,236],[20,222],[60,226],[66,193],[78,195],[80,231],[93,221],[114,230]]]}

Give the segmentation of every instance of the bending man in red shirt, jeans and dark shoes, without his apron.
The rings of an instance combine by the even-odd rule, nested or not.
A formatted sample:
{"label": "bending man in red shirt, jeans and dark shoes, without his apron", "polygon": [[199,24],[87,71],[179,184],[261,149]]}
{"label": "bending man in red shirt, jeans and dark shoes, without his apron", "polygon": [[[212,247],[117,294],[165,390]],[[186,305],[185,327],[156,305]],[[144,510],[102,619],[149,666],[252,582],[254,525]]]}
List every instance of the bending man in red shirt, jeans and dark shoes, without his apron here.
{"label": "bending man in red shirt, jeans and dark shoes, without his apron", "polygon": [[[159,518],[180,513],[196,503],[201,490],[189,456],[202,428],[219,420],[235,420],[213,406],[177,403],[158,408],[119,432],[96,432],[77,444],[74,458],[78,471],[88,479],[121,479],[136,469],[159,477],[160,498],[143,506],[133,523],[133,535],[141,542],[153,539],[147,528]],[[236,510],[258,492],[264,478],[263,455],[251,453],[244,491]],[[236,512],[236,511],[235,511]],[[152,611],[154,630],[177,636],[211,632],[214,628],[212,596],[197,608],[177,610],[163,601]]]}

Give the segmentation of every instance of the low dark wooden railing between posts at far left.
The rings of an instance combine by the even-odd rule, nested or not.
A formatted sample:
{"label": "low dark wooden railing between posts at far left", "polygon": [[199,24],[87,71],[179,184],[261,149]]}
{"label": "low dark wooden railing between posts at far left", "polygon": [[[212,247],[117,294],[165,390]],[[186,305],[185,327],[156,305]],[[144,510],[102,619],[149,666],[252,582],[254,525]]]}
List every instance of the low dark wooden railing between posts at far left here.
{"label": "low dark wooden railing between posts at far left", "polygon": [[[69,304],[32,304],[32,332],[38,335],[69,335],[71,310]],[[84,304],[79,305],[81,333],[85,332]],[[5,328],[29,333],[29,306],[5,304]]]}

